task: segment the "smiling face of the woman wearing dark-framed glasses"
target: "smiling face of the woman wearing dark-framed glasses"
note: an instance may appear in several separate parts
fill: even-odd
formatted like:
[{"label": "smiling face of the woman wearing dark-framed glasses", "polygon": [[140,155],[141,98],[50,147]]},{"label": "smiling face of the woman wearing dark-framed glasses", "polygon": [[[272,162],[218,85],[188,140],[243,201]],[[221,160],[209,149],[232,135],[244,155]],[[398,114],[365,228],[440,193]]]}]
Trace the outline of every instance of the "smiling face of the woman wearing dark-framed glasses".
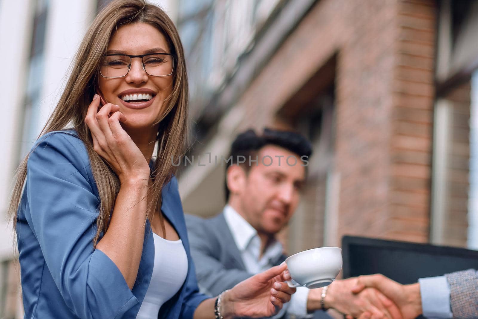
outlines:
[{"label": "smiling face of the woman wearing dark-framed glasses", "polygon": [[[102,103],[120,106],[127,118],[124,127],[154,127],[157,132],[164,115],[163,102],[173,89],[173,65],[168,41],[157,28],[144,22],[121,27],[100,62],[98,94]],[[152,98],[145,100],[143,94]]]}]

